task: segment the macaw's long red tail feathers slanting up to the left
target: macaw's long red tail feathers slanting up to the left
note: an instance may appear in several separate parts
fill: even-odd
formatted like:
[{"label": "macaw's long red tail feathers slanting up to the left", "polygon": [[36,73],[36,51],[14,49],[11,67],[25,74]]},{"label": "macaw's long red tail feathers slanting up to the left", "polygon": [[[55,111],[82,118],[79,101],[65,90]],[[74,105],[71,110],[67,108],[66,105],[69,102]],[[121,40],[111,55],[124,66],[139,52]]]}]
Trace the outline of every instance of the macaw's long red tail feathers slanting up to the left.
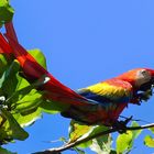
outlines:
[{"label": "macaw's long red tail feathers slanting up to the left", "polygon": [[[10,24],[10,25],[9,25]],[[45,98],[58,101],[62,103],[74,105],[74,106],[89,106],[88,100],[80,95],[76,94],[70,88],[61,84],[55,79],[46,69],[44,69],[34,58],[31,56],[19,43],[13,30],[12,23],[6,25],[7,34],[6,37],[9,45],[4,43],[0,44],[3,46],[4,52],[9,51],[8,54],[12,54],[20,63],[25,78],[32,82],[40,79],[42,76],[47,76],[50,80],[42,85],[41,90],[46,91]],[[2,35],[0,35],[2,40]],[[0,40],[0,42],[1,42]],[[11,48],[10,48],[11,46]],[[4,48],[6,47],[6,48]],[[8,47],[8,48],[7,48]]]}]

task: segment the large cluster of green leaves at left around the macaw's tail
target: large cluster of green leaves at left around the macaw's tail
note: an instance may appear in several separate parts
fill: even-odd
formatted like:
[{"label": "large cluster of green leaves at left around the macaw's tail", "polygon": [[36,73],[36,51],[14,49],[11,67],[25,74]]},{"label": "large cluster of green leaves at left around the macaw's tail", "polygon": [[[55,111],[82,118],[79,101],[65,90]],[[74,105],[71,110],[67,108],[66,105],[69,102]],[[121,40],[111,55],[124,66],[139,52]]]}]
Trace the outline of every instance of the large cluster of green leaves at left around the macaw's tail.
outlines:
[{"label": "large cluster of green leaves at left around the macaw's tail", "polygon": [[[45,57],[40,50],[32,50],[30,54],[46,68]],[[50,78],[42,76],[30,84],[23,77],[18,61],[0,55],[0,144],[6,144],[12,140],[25,140],[29,134],[23,128],[33,124],[42,112],[56,113],[65,107],[44,99],[45,91],[37,90]]]}]

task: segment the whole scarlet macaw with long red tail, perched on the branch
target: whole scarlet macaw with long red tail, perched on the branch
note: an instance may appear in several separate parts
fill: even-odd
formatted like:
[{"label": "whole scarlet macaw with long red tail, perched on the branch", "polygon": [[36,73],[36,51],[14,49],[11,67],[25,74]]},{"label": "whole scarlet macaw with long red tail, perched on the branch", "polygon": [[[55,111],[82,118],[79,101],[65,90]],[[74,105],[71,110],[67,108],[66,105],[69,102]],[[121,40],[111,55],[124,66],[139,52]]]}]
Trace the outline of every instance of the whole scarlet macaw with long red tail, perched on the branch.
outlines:
[{"label": "whole scarlet macaw with long red tail, perched on the branch", "polygon": [[45,99],[69,105],[62,112],[64,117],[86,124],[112,125],[128,103],[139,105],[144,92],[154,84],[153,69],[136,68],[75,92],[55,79],[18,43],[11,23],[6,29],[9,43],[0,35],[1,53],[12,54],[19,61],[29,81],[43,75],[50,77],[50,81],[42,85],[41,90],[47,91],[44,94]]}]

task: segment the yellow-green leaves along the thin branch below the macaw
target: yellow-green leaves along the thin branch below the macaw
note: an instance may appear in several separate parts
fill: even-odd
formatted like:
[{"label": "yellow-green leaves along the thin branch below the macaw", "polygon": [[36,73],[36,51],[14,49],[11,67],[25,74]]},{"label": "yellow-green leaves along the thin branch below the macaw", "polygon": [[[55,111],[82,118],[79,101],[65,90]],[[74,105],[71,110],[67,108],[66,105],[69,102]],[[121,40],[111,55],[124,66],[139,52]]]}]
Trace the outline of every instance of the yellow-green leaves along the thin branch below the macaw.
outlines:
[{"label": "yellow-green leaves along the thin branch below the macaw", "polygon": [[[133,121],[131,127],[140,125],[139,123]],[[68,143],[76,142],[87,136],[94,136],[107,130],[109,130],[109,128],[105,125],[84,125],[82,123],[72,120],[69,127]],[[154,133],[154,128],[151,128],[148,130]],[[97,154],[128,154],[133,150],[135,140],[142,133],[142,131],[143,130],[133,130],[119,134],[116,139],[116,147],[113,147],[112,145],[113,140],[111,134],[106,134],[77,145],[76,147],[74,147],[74,151],[76,151],[78,154],[82,154],[85,153],[85,148],[89,147]],[[144,145],[146,145],[147,147],[154,147],[154,138],[152,135],[146,135],[144,138]]]}]

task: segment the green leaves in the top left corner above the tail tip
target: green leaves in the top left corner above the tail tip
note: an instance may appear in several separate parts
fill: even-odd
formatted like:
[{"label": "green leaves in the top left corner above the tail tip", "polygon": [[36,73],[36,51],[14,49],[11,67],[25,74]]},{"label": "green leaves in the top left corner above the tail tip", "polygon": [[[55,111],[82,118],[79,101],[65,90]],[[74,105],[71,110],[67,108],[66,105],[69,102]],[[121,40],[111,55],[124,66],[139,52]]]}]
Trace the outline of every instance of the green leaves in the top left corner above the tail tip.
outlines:
[{"label": "green leaves in the top left corner above the tail tip", "polygon": [[0,0],[0,26],[12,20],[14,10],[8,0]]}]

